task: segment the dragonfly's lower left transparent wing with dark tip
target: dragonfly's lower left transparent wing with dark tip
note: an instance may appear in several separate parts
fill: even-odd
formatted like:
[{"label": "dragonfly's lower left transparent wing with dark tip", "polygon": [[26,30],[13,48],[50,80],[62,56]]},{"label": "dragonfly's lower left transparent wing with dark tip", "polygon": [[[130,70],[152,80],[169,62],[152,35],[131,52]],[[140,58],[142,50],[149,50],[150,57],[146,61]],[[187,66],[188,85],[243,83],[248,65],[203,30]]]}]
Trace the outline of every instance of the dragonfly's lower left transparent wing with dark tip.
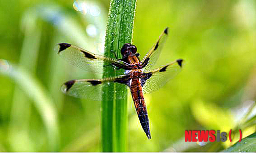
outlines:
[{"label": "dragonfly's lower left transparent wing with dark tip", "polygon": [[[71,80],[61,86],[61,91],[70,96],[78,98],[88,98],[92,100],[101,100],[102,87],[116,83],[126,84],[129,82],[130,75],[119,75],[104,79],[82,79]],[[111,96],[111,95],[110,95]],[[117,97],[118,98],[118,97]]]}]

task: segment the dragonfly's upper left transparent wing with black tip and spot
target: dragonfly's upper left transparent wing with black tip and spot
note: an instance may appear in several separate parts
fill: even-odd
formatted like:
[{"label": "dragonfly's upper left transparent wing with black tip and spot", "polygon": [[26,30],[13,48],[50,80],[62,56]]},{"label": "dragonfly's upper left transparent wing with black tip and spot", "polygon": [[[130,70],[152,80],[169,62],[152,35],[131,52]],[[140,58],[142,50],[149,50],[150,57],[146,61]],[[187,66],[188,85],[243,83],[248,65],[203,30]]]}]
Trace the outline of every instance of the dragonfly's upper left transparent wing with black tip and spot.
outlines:
[{"label": "dragonfly's upper left transparent wing with black tip and spot", "polygon": [[58,55],[69,63],[87,71],[103,73],[103,66],[117,66],[126,69],[130,66],[123,61],[104,57],[88,52],[82,48],[68,43],[59,43]]}]

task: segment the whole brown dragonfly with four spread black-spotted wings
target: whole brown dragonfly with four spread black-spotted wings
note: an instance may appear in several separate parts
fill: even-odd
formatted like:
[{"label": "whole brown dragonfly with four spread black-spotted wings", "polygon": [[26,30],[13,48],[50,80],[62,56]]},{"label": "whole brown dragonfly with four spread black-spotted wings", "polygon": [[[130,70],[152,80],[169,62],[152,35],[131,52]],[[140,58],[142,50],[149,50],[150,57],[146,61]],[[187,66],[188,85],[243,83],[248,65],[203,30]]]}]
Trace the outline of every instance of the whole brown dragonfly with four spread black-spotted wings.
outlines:
[{"label": "whole brown dragonfly with four spread black-spotted wings", "polygon": [[116,58],[109,58],[69,43],[59,43],[58,55],[83,70],[103,73],[103,66],[125,70],[124,74],[110,78],[68,81],[61,86],[62,92],[74,97],[101,100],[99,95],[102,94],[102,87],[106,84],[119,83],[129,87],[142,129],[147,138],[151,139],[150,122],[143,94],[152,93],[164,86],[181,71],[183,63],[182,59],[178,59],[152,69],[167,36],[168,28],[161,33],[157,42],[142,60],[139,59],[137,47],[131,43],[123,44],[120,50],[122,59],[118,59],[116,54]]}]

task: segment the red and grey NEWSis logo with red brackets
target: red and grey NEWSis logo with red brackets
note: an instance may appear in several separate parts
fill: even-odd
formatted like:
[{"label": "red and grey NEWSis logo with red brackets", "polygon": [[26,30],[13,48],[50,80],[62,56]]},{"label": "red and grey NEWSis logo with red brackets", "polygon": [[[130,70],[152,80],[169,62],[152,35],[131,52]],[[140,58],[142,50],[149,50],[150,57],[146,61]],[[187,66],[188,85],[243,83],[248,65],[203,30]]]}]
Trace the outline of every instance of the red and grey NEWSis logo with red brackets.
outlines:
[{"label": "red and grey NEWSis logo with red brackets", "polygon": [[[208,140],[210,142],[225,142],[227,141],[227,138],[229,138],[229,141],[231,142],[231,132],[229,131],[229,135],[227,136],[226,132],[220,132],[220,130],[185,130],[185,142],[207,142]],[[242,139],[242,131],[239,130],[240,133],[240,139],[239,142]]]}]

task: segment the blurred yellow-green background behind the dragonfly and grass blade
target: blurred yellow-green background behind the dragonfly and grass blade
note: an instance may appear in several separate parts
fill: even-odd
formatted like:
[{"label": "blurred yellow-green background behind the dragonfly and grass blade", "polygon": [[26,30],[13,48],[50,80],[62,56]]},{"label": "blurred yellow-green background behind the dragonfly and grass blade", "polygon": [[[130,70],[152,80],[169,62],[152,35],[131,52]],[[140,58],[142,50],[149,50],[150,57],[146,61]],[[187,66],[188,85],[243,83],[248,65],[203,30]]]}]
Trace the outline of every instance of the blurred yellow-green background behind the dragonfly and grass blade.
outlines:
[{"label": "blurred yellow-green background behind the dragonfly and grass blade", "polygon": [[[103,0],[0,2],[0,59],[13,65],[0,61],[0,151],[101,151],[100,101],[60,91],[68,80],[100,76],[70,65],[54,46],[68,42],[102,54],[109,5]],[[141,58],[165,27],[169,38],[156,67],[179,58],[185,65],[175,79],[145,95],[152,140],[130,97],[127,151],[228,147],[229,142],[184,142],[184,131],[229,132],[249,113],[256,97],[256,2],[138,0],[133,43]],[[256,129],[243,127],[243,137]]]}]

